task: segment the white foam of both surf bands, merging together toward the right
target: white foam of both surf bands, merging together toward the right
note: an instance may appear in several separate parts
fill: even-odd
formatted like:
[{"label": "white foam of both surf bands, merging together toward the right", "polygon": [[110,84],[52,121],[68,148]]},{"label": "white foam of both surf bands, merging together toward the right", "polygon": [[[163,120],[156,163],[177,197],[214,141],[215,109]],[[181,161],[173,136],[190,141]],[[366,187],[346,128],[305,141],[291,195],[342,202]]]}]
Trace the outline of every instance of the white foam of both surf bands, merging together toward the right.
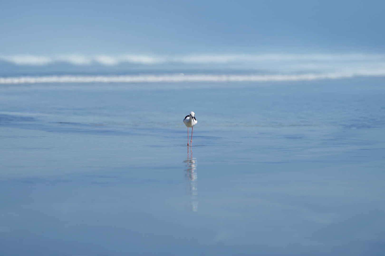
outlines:
[{"label": "white foam of both surf bands, merging together toward the right", "polygon": [[[122,63],[139,65],[167,64],[185,65],[184,69],[201,67],[227,70],[229,74],[163,74],[163,75],[124,75],[124,76],[19,76],[0,78],[0,84],[22,83],[153,83],[153,82],[232,82],[232,81],[300,81],[315,79],[338,79],[353,76],[384,76],[385,55],[368,54],[265,54],[265,55],[57,55],[57,56],[0,56],[0,60],[17,65],[43,66],[58,62],[73,65],[99,63],[116,66]],[[187,66],[186,66],[187,65]],[[192,66],[191,66],[192,65]],[[231,72],[229,70],[234,70]],[[236,70],[258,70],[258,74],[234,74]],[[249,71],[253,73],[252,71]],[[231,74],[233,73],[233,74]],[[257,73],[257,72],[255,72]]]}]

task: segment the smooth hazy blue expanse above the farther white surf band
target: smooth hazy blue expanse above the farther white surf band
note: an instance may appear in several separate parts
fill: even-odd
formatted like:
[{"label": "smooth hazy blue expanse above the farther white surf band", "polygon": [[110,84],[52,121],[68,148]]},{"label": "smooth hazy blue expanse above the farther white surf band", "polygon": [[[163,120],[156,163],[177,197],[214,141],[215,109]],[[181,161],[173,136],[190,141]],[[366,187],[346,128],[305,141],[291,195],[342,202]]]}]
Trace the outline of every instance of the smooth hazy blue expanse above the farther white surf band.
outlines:
[{"label": "smooth hazy blue expanse above the farther white surf band", "polygon": [[385,1],[0,0],[0,55],[385,53]]}]

